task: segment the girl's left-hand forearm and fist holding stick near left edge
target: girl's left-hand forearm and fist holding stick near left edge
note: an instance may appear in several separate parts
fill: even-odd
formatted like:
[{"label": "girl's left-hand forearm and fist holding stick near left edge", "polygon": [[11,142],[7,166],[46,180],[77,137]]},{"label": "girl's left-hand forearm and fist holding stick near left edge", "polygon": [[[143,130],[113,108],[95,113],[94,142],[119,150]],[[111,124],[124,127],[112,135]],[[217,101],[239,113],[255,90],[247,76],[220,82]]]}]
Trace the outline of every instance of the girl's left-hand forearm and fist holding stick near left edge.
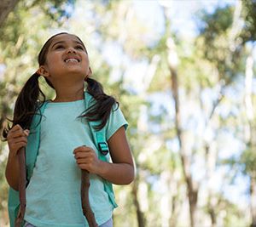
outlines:
[{"label": "girl's left-hand forearm and fist holding stick near left edge", "polygon": [[27,136],[29,131],[23,130],[20,125],[15,125],[14,128],[9,130],[7,141],[9,145],[8,162],[5,169],[5,177],[8,184],[14,189],[19,190],[19,160],[17,151],[26,146]]}]

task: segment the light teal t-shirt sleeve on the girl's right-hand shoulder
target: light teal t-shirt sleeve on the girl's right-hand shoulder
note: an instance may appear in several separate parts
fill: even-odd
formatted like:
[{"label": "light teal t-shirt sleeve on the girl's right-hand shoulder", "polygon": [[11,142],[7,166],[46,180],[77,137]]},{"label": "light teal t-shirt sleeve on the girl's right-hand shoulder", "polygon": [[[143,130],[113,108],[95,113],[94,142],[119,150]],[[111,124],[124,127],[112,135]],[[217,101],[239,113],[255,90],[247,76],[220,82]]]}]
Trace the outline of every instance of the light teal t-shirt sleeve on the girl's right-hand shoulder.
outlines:
[{"label": "light teal t-shirt sleeve on the girl's right-hand shoulder", "polygon": [[108,122],[106,125],[107,141],[122,126],[124,126],[126,130],[128,127],[128,122],[126,122],[125,116],[123,115],[119,106],[115,105],[110,112],[110,116],[108,117]]}]

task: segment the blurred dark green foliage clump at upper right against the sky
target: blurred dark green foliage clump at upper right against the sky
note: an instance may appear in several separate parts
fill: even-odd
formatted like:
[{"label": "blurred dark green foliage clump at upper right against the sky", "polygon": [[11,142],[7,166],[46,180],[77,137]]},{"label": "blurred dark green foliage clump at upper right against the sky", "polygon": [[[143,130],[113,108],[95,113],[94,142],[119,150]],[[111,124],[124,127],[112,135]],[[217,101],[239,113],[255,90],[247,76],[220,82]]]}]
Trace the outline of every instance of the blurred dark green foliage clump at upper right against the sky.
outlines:
[{"label": "blurred dark green foliage clump at upper right against the sky", "polygon": [[230,37],[233,14],[234,9],[230,6],[218,8],[212,14],[204,12],[200,29],[201,39],[198,40],[203,57],[215,65],[219,79],[224,79],[225,83],[230,83],[237,72],[243,70],[242,47],[236,46],[232,49],[232,43],[235,42],[234,37]]}]

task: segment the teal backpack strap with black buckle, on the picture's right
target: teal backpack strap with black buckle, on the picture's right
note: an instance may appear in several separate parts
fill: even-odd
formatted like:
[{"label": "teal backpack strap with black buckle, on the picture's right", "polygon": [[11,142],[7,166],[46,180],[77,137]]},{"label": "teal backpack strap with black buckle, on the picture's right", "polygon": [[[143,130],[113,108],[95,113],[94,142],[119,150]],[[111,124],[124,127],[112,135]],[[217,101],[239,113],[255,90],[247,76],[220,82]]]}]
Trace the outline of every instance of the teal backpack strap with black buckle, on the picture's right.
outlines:
[{"label": "teal backpack strap with black buckle, on the picture's right", "polygon": [[[84,100],[85,100],[85,110],[89,107],[90,100],[92,99],[91,95],[87,92],[84,93]],[[88,122],[90,127],[90,132],[93,136],[95,145],[97,149],[100,151],[98,158],[103,162],[109,162],[109,149],[108,143],[106,139],[106,128],[102,128],[101,130],[96,130],[94,126],[98,125],[98,122]],[[106,179],[104,181],[104,190],[108,193],[108,198],[113,204],[113,207],[118,207],[114,200],[114,193],[113,193],[113,185]]]}]

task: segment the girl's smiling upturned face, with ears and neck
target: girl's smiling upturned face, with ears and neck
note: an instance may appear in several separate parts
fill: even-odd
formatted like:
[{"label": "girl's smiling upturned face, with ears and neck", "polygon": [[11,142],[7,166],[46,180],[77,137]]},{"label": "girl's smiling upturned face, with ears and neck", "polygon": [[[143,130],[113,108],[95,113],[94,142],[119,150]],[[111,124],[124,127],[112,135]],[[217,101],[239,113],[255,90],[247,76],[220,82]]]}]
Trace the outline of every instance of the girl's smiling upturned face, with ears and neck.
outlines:
[{"label": "girl's smiling upturned face, with ears and neck", "polygon": [[[39,73],[55,88],[55,101],[82,99],[84,80],[90,77],[90,65],[84,44],[78,37],[61,34],[54,37]],[[79,91],[73,97],[74,91]]]}]

